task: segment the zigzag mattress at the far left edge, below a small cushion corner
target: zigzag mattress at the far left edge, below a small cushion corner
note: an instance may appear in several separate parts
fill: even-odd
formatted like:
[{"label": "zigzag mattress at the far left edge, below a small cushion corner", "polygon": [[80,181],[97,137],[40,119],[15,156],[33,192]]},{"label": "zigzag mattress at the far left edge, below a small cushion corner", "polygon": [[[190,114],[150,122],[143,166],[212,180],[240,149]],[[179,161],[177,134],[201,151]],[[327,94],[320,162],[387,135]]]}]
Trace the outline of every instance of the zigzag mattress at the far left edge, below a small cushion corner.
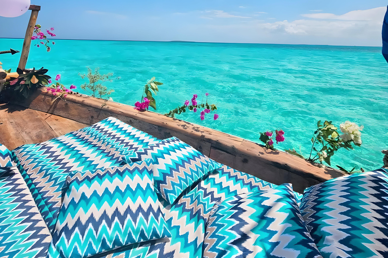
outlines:
[{"label": "zigzag mattress at the far left edge, below a small cushion corner", "polygon": [[0,176],[0,257],[40,258],[51,234],[16,167]]}]

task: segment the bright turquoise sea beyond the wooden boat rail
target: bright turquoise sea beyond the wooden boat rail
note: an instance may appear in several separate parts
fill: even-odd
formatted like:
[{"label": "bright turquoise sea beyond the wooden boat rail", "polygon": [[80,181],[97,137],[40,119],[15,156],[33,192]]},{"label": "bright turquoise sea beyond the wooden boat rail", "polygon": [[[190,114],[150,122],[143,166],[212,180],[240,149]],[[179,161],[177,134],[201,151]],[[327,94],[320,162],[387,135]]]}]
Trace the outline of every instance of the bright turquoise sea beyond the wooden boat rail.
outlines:
[{"label": "bright turquoise sea beyond the wooden boat rail", "polygon": [[[108,88],[114,101],[133,105],[144,84],[163,82],[155,97],[159,113],[182,105],[192,94],[217,105],[219,119],[186,112],[181,119],[260,142],[260,132],[282,128],[278,149],[308,156],[318,120],[337,126],[364,125],[361,147],[340,150],[332,166],[381,167],[388,149],[388,63],[379,47],[230,44],[192,42],[55,40],[50,53],[31,46],[27,68],[44,67],[79,86],[78,73],[99,67],[121,77]],[[21,39],[0,39],[0,50],[21,50]],[[16,68],[20,54],[0,55],[3,68]],[[16,71],[15,69],[13,71]],[[79,89],[79,92],[85,93]]]}]

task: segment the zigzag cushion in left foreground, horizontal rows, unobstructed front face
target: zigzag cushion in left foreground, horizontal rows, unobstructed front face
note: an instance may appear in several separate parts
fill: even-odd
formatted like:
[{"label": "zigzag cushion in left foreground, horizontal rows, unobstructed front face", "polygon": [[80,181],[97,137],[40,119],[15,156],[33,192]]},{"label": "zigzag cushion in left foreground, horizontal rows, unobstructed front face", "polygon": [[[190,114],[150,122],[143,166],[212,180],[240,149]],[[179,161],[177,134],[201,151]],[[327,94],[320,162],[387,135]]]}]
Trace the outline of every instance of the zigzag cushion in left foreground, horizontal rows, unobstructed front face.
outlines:
[{"label": "zigzag cushion in left foreground, horizontal rows, unobstructed front face", "polygon": [[88,257],[171,237],[153,184],[150,160],[69,175],[48,257]]}]

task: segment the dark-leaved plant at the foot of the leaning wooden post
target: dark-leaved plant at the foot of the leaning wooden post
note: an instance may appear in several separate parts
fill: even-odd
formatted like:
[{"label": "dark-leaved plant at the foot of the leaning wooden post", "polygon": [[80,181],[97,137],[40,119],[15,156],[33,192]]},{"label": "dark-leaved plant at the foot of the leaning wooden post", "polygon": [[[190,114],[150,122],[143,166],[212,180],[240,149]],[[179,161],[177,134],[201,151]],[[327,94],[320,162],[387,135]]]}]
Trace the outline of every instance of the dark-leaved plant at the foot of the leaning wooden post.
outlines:
[{"label": "dark-leaved plant at the foot of the leaning wooden post", "polygon": [[45,75],[47,69],[35,70],[21,70],[18,68],[16,72],[19,77],[10,82],[10,88],[16,91],[16,97],[28,98],[36,89],[44,87],[49,84],[50,76]]}]

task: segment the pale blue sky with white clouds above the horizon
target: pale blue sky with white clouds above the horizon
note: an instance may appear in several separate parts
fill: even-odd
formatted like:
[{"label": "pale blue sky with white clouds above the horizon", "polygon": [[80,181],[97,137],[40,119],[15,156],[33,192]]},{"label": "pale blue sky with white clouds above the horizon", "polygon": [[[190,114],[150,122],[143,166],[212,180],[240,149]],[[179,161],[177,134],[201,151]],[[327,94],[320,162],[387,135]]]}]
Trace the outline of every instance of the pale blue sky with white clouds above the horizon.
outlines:
[{"label": "pale blue sky with white clouds above the horizon", "polygon": [[[382,0],[44,1],[37,23],[61,39],[381,46]],[[30,12],[0,17],[23,38]]]}]

